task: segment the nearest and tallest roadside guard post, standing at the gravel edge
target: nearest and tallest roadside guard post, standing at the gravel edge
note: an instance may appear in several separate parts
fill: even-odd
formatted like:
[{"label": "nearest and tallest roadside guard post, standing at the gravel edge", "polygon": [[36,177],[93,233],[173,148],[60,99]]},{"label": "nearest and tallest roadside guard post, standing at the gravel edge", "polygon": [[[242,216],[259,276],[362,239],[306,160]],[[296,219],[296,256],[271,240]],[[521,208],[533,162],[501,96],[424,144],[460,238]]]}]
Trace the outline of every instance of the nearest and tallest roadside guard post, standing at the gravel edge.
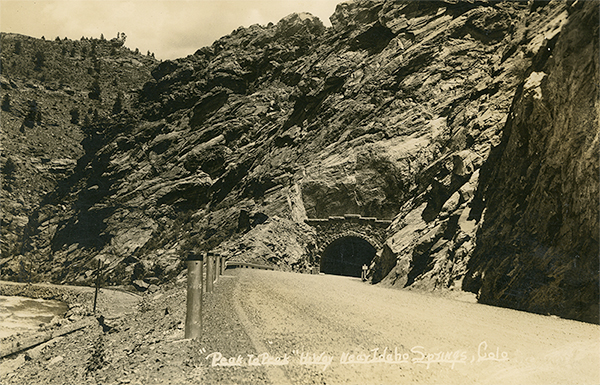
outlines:
[{"label": "nearest and tallest roadside guard post, standing at the gravel edge", "polygon": [[191,255],[187,260],[187,308],[185,338],[200,338],[202,332],[202,259]]}]

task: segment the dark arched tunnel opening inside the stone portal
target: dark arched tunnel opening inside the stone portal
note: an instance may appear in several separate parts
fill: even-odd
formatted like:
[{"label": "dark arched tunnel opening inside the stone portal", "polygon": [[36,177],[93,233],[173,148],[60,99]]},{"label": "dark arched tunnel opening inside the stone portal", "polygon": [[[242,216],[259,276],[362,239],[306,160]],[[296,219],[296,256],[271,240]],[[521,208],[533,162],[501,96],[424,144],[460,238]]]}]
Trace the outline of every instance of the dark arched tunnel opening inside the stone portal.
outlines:
[{"label": "dark arched tunnel opening inside the stone portal", "polygon": [[343,237],[331,242],[321,256],[321,272],[360,277],[362,266],[370,265],[375,247],[359,237]]}]

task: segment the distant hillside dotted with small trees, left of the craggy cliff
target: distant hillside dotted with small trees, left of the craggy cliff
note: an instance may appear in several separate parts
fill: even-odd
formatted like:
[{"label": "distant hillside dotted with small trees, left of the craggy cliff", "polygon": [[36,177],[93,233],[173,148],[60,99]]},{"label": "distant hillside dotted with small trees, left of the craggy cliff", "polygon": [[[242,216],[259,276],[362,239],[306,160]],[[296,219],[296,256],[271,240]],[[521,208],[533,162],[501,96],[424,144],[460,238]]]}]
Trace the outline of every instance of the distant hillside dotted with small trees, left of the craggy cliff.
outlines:
[{"label": "distant hillside dotted with small trees, left of the craggy cliff", "polygon": [[125,39],[2,33],[3,270],[26,264],[15,256],[25,251],[31,215],[72,174],[92,122],[126,113],[149,80],[156,60],[124,47]]}]

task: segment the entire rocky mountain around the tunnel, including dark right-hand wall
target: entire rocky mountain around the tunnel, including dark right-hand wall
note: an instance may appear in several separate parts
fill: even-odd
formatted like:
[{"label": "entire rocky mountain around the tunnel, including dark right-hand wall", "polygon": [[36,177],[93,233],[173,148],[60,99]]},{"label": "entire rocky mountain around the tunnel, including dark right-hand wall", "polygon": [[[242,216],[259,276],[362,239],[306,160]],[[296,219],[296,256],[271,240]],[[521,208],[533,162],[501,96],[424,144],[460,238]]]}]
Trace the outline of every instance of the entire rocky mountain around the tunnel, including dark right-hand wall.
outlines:
[{"label": "entire rocky mountain around the tunnel, including dark right-hand wall", "polygon": [[[360,214],[393,219],[373,283],[464,279],[482,301],[597,322],[597,10],[352,1],[331,28],[292,14],[162,62],[134,108],[89,122],[1,275],[24,258],[36,279],[86,283],[99,256],[111,282],[158,282],[194,249],[303,271],[320,257],[304,220]],[[535,290],[516,291],[534,270]],[[584,288],[579,302],[540,294],[552,275],[561,298]]]}]

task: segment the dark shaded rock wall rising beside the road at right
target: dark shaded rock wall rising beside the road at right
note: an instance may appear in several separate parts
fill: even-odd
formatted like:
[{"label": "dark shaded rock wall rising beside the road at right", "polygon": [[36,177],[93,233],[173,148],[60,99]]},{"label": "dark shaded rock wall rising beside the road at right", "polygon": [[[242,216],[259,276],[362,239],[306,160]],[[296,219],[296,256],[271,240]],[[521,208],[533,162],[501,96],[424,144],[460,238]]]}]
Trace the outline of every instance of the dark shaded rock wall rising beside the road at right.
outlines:
[{"label": "dark shaded rock wall rising beside the road at right", "polygon": [[574,5],[482,168],[465,288],[484,303],[598,323],[598,26],[597,2]]}]

